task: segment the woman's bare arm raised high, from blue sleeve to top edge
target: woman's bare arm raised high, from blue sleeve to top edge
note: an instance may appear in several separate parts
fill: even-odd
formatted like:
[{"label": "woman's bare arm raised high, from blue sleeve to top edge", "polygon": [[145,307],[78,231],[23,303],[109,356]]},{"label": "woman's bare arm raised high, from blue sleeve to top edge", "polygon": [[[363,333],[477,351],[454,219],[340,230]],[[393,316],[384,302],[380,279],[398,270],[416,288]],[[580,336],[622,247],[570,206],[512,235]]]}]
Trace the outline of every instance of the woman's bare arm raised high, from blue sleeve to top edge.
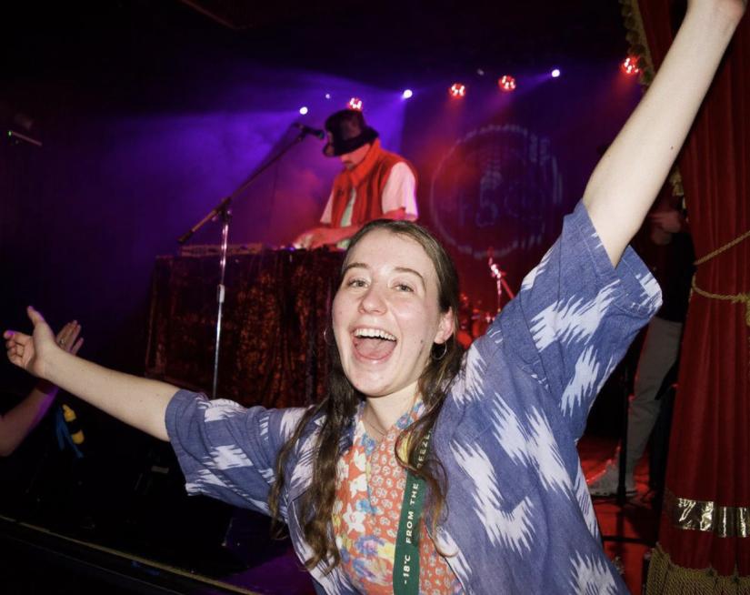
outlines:
[{"label": "woman's bare arm raised high, from blue sleeve to top edge", "polygon": [[584,205],[613,264],[641,227],[711,85],[747,0],[690,0],[641,103],[595,167]]}]

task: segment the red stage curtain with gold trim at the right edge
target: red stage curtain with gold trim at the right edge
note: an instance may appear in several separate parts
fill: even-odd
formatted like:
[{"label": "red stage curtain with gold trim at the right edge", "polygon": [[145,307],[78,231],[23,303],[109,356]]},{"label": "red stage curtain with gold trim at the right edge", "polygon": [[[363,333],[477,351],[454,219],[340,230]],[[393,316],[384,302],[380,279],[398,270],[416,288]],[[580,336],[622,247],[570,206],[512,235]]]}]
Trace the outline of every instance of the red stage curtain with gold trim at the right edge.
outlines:
[{"label": "red stage curtain with gold trim at the right edge", "polygon": [[[674,35],[671,4],[640,0],[630,5],[631,35],[638,36],[640,11],[640,33],[647,40],[640,49],[650,50],[657,68]],[[631,41],[637,45],[633,36]],[[698,261],[736,238],[745,239],[697,268],[700,291],[693,294],[685,325],[660,548],[648,592],[745,593],[750,592],[748,15],[678,165]],[[713,571],[697,571],[706,569]]]}]

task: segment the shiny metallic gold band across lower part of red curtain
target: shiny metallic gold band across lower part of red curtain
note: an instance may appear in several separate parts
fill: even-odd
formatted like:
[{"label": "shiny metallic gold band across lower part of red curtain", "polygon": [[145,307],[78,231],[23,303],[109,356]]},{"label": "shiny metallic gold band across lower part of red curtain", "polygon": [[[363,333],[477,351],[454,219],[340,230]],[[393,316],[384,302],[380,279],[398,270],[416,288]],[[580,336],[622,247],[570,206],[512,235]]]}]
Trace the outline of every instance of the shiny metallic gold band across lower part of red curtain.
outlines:
[{"label": "shiny metallic gold band across lower part of red curtain", "polygon": [[677,498],[666,490],[664,513],[678,529],[704,531],[718,537],[750,537],[750,507]]}]

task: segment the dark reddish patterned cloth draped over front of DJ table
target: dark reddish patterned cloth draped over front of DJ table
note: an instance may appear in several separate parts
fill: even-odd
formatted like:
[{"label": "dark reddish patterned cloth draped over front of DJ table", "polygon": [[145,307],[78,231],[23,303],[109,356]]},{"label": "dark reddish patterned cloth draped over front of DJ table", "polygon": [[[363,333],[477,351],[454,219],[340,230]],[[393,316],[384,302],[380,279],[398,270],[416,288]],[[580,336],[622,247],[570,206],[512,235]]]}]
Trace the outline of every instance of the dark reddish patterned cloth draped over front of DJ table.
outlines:
[{"label": "dark reddish patterned cloth draped over front of DJ table", "polygon": [[[322,397],[323,336],[343,253],[230,254],[217,396],[245,406],[292,407]],[[159,257],[146,373],[210,395],[218,257]]]}]

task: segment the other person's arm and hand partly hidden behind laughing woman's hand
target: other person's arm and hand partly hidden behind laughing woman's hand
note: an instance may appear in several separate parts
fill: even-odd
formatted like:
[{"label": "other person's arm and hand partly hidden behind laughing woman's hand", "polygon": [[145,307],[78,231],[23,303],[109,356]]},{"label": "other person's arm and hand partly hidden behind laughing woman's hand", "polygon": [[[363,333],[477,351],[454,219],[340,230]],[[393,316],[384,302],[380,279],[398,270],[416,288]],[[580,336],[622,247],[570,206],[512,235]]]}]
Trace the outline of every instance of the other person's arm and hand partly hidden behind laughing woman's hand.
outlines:
[{"label": "other person's arm and hand partly hidden behind laughing woman's hand", "polygon": [[[75,355],[84,343],[83,338],[78,338],[80,332],[81,325],[73,320],[57,333],[55,341],[60,348]],[[23,401],[0,416],[0,456],[13,454],[29,432],[35,429],[55,402],[58,390],[47,380],[39,380]]]}]

